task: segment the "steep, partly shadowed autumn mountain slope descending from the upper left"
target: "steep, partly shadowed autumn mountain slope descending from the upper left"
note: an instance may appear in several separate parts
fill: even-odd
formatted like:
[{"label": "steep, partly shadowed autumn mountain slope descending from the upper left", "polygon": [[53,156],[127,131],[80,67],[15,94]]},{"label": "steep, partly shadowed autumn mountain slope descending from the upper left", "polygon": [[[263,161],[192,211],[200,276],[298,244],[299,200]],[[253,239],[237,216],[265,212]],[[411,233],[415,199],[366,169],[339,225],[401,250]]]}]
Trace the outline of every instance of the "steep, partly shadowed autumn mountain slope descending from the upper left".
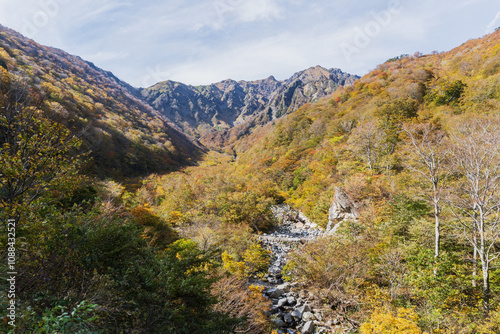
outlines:
[{"label": "steep, partly shadowed autumn mountain slope descending from the upper left", "polygon": [[204,149],[112,73],[0,25],[0,71],[24,78],[92,150],[94,172],[135,176],[192,164]]}]

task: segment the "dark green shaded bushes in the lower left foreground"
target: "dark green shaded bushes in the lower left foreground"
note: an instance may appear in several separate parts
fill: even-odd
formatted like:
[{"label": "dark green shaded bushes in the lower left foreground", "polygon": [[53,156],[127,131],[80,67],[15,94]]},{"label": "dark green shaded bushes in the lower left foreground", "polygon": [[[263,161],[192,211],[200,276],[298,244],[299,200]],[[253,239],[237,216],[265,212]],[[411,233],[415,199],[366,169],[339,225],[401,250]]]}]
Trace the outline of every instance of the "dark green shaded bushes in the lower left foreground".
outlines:
[{"label": "dark green shaded bushes in the lower left foreground", "polygon": [[[19,330],[229,333],[238,323],[212,311],[213,251],[184,239],[167,245],[159,236],[166,249],[151,248],[144,218],[139,223],[106,205],[46,218],[50,224],[24,234],[39,241],[19,259]],[[93,305],[79,302],[89,295]]]}]

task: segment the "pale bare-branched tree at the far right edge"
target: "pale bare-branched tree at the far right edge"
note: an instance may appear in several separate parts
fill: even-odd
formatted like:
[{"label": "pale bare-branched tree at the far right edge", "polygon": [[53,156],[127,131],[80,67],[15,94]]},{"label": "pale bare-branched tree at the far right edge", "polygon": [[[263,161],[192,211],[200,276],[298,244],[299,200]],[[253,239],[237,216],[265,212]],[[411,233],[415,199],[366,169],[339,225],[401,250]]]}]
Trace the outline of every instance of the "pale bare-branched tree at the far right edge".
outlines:
[{"label": "pale bare-branched tree at the far right edge", "polygon": [[451,134],[452,163],[461,180],[450,204],[465,238],[481,260],[483,309],[490,308],[490,268],[500,255],[500,120],[463,122]]}]

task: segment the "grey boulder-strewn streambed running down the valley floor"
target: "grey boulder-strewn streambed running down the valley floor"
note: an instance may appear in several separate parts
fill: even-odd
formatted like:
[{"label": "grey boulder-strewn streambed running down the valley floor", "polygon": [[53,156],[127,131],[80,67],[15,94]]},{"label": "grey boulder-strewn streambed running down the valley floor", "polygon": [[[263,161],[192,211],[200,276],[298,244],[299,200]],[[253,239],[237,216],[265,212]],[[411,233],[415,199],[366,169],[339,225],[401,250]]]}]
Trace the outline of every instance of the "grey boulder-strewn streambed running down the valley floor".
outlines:
[{"label": "grey boulder-strewn streambed running down the valley floor", "polygon": [[262,281],[256,282],[265,286],[264,295],[272,301],[268,311],[271,322],[280,334],[330,333],[335,323],[324,319],[324,312],[314,307],[317,305],[314,296],[296,282],[285,282],[282,277],[290,251],[320,237],[324,231],[289,206],[276,206],[273,213],[280,225],[272,233],[259,236],[262,245],[272,252],[272,263]]}]

